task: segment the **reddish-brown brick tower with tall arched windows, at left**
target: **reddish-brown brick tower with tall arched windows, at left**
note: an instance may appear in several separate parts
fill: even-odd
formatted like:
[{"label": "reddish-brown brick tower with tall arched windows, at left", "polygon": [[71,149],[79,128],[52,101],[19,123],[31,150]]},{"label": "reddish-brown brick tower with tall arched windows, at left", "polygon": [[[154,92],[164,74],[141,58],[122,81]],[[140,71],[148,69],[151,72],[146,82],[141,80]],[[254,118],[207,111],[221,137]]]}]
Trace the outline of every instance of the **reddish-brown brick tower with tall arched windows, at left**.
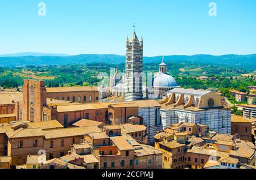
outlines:
[{"label": "reddish-brown brick tower with tall arched windows, at left", "polygon": [[46,106],[46,82],[39,80],[24,80],[22,106],[23,121],[42,121],[43,106]]}]

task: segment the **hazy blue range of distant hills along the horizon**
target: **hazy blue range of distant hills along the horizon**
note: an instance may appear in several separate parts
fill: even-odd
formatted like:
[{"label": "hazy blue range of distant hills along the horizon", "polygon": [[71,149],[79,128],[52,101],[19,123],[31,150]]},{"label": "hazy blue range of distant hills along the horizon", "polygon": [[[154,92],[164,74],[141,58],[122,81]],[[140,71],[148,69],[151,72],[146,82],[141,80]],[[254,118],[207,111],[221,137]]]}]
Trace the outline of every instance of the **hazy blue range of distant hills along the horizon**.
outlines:
[{"label": "hazy blue range of distant hills along the horizon", "polygon": [[[256,54],[251,55],[167,55],[164,57],[167,63],[203,63],[219,66],[242,67],[249,70],[256,69]],[[143,63],[161,62],[162,56],[144,57]],[[115,54],[80,54],[80,55],[26,55],[0,57],[0,66],[48,66],[48,65],[75,65],[93,62],[123,63],[124,55]]]}]

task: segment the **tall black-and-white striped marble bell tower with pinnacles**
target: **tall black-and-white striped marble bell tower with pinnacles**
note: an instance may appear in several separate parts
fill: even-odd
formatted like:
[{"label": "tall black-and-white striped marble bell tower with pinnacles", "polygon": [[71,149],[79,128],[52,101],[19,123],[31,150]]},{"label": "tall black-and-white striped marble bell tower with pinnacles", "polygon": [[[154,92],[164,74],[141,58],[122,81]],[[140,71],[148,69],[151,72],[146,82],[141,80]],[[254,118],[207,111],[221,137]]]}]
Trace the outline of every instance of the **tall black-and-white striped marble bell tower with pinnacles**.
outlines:
[{"label": "tall black-and-white striped marble bell tower with pinnacles", "polygon": [[142,93],[143,40],[134,31],[131,40],[126,39],[125,100],[141,100]]}]

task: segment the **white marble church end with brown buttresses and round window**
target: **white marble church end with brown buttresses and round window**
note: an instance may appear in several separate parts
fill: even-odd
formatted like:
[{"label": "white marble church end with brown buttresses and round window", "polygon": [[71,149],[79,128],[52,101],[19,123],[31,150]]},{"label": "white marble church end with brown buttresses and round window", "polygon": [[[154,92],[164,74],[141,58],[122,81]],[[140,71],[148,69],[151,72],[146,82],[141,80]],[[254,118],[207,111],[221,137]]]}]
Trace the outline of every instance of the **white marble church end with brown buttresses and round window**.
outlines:
[{"label": "white marble church end with brown buttresses and round window", "polygon": [[207,125],[220,134],[231,132],[231,110],[224,108],[220,95],[212,91],[172,89],[160,104],[163,128],[173,123],[192,122]]}]

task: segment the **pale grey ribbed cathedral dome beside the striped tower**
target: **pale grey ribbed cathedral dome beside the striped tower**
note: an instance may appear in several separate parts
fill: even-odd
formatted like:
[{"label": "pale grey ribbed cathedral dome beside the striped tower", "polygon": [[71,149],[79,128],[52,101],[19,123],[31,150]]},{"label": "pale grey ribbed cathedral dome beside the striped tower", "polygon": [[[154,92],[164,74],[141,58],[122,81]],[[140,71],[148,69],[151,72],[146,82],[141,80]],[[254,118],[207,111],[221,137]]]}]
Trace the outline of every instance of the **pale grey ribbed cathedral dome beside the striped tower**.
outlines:
[{"label": "pale grey ribbed cathedral dome beside the striped tower", "polygon": [[153,87],[177,87],[175,79],[166,72],[159,72],[152,78]]}]

